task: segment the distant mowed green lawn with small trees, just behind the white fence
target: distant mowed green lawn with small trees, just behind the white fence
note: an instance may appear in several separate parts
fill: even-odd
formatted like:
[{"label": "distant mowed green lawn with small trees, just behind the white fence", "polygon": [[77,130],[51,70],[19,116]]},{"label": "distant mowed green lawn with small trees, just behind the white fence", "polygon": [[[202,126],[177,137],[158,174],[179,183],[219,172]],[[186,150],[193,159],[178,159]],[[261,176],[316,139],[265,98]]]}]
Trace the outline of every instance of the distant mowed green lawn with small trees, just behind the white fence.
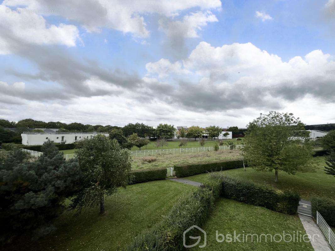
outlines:
[{"label": "distant mowed green lawn with small trees, just behind the white fence", "polygon": [[[228,141],[232,141],[237,145],[241,145],[243,142],[243,138],[241,138],[242,140],[236,140],[234,139],[229,139],[229,140],[222,140],[224,143],[228,142]],[[213,147],[215,145],[215,143],[217,142],[217,140],[206,140],[206,144],[205,147]],[[163,147],[156,147],[156,142],[155,141],[150,141],[150,143],[145,147],[141,147],[141,150],[156,150],[156,149],[173,149],[173,148],[181,148],[179,146],[180,141],[176,140],[176,141],[167,141],[166,142],[167,145],[163,146]],[[186,147],[202,147],[199,144],[198,139],[196,141],[190,140],[187,141],[187,145]],[[185,147],[183,147],[185,148]],[[133,146],[130,151],[139,151],[140,149],[136,146]],[[63,152],[64,154],[73,154],[75,151],[75,149],[70,149],[70,150],[62,150],[61,152]]]}]

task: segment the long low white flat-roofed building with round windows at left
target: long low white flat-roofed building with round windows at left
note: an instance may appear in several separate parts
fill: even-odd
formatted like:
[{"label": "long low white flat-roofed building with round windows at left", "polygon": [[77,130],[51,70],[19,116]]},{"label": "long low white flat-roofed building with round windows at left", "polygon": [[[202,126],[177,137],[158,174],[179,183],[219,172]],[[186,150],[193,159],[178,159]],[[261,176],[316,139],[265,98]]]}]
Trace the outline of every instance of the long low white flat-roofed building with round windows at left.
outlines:
[{"label": "long low white flat-roofed building with round windows at left", "polygon": [[77,133],[77,132],[23,132],[21,134],[22,144],[26,146],[43,145],[44,142],[51,140],[55,143],[70,144],[82,139],[89,139],[97,134],[109,136],[108,133]]}]

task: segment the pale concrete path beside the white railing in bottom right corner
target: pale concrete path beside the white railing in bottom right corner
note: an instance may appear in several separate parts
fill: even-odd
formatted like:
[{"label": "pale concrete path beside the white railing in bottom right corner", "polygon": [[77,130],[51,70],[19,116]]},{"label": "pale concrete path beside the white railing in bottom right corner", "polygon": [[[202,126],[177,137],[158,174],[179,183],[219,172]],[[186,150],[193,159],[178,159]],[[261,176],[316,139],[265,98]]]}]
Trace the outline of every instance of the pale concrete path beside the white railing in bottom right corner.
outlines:
[{"label": "pale concrete path beside the white railing in bottom right corner", "polygon": [[313,221],[313,219],[305,215],[299,215],[299,218],[304,226],[306,233],[311,236],[310,241],[311,241],[311,244],[314,250],[315,251],[332,251],[323,233],[321,232],[318,225]]}]

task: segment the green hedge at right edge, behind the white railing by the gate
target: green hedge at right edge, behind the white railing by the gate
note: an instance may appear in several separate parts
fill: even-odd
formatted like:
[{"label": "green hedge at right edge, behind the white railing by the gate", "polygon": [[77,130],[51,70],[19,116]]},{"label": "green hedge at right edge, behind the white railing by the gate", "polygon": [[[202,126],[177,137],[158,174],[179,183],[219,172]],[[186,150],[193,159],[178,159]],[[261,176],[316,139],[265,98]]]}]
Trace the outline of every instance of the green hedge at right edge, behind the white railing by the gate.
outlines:
[{"label": "green hedge at right edge, behind the white railing by the gate", "polygon": [[335,200],[312,197],[311,202],[313,217],[316,218],[316,211],[319,211],[328,225],[335,227]]}]

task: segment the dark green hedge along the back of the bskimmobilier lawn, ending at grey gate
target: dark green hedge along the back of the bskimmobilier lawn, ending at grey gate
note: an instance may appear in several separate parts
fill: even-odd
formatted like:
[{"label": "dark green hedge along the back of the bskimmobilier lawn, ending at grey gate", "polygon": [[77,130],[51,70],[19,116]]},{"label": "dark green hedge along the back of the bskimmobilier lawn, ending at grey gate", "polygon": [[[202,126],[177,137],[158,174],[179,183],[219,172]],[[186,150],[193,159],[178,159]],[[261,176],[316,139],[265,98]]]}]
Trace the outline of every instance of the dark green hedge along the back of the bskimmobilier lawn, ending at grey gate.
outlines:
[{"label": "dark green hedge along the back of the bskimmobilier lawn, ending at grey gate", "polygon": [[276,190],[263,184],[231,178],[220,173],[212,173],[211,180],[221,181],[220,195],[225,198],[290,215],[297,211],[300,196],[296,192]]}]

